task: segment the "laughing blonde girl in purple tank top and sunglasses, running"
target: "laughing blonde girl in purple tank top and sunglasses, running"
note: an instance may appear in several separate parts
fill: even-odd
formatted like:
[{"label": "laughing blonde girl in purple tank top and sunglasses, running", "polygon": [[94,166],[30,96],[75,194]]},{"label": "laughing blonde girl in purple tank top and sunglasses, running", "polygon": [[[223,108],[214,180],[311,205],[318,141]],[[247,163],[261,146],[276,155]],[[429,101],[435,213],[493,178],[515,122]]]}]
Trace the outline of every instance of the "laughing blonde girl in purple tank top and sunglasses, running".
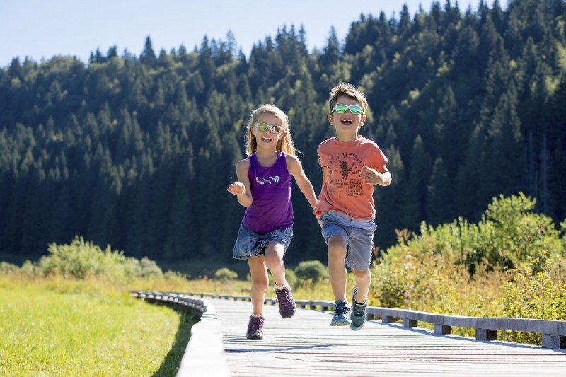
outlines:
[{"label": "laughing blonde girl in purple tank top and sunglasses, running", "polygon": [[253,313],[246,337],[262,339],[263,302],[269,284],[267,269],[275,279],[279,313],[283,318],[291,318],[295,313],[283,262],[293,238],[291,175],[313,209],[316,195],[295,156],[289,119],[276,106],[262,105],[252,112],[246,132],[246,155],[248,158],[236,163],[238,181],[228,186],[228,192],[247,207],[233,257],[248,260],[252,277]]}]

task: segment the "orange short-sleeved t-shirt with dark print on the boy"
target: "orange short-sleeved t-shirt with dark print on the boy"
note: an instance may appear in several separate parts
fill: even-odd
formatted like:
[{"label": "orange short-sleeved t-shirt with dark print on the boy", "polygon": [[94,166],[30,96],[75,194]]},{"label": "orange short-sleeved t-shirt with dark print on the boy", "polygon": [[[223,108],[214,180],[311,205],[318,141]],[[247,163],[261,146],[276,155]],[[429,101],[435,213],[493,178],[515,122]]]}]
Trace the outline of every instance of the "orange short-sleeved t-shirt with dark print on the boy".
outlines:
[{"label": "orange short-sleeved t-shirt with dark print on the boy", "polygon": [[318,145],[318,164],[328,168],[315,214],[340,211],[354,219],[375,219],[374,186],[365,183],[362,168],[367,166],[381,170],[387,158],[374,141],[359,136],[357,140],[344,142],[332,137]]}]

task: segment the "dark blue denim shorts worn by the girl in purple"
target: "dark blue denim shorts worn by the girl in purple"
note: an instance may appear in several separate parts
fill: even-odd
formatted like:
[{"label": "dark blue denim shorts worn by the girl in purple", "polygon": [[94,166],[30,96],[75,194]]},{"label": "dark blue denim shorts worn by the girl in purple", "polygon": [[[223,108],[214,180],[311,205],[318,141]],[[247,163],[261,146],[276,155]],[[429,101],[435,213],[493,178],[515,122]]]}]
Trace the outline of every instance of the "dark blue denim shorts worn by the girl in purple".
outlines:
[{"label": "dark blue denim shorts worn by the girl in purple", "polygon": [[251,231],[242,224],[234,245],[233,257],[234,259],[250,259],[258,255],[265,255],[265,247],[272,242],[280,243],[287,250],[292,239],[292,226],[276,229],[267,234],[260,234]]}]

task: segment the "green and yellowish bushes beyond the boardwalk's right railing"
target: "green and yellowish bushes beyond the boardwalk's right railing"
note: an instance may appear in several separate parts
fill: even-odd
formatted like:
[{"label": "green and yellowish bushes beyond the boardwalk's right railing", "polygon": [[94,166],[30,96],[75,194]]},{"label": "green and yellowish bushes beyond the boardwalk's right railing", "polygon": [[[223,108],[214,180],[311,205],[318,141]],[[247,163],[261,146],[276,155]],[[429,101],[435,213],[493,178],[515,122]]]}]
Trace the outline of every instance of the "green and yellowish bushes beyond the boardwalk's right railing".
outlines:
[{"label": "green and yellowish bushes beyond the boardwalk's right railing", "polygon": [[[566,221],[560,231],[524,195],[493,200],[481,221],[459,219],[403,237],[371,269],[371,306],[473,317],[566,319]],[[473,335],[456,327],[455,334]],[[540,335],[501,332],[540,344]]]}]

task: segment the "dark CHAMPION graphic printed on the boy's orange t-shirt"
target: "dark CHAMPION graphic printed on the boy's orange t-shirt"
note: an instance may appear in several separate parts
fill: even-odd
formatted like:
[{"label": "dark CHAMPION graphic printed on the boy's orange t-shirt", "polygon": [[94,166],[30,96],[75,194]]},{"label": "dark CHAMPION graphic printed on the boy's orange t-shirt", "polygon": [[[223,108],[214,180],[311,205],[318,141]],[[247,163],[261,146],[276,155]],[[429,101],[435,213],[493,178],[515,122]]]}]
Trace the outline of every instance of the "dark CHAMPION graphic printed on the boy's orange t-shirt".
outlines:
[{"label": "dark CHAMPION graphic printed on the boy's orange t-shirt", "polygon": [[[362,172],[364,161],[355,153],[340,153],[330,158],[328,164],[329,193],[337,192],[338,197],[359,197],[362,190]],[[332,187],[332,188],[330,188]]]}]

